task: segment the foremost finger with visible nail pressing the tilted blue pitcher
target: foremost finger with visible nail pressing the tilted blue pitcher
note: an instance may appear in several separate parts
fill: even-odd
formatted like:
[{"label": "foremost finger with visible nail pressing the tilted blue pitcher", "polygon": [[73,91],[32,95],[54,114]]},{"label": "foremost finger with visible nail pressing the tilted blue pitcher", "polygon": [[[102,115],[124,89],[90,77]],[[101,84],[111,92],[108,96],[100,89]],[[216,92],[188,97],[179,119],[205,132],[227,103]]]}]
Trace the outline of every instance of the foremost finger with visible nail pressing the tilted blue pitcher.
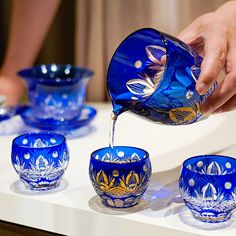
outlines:
[{"label": "foremost finger with visible nail pressing the tilted blue pitcher", "polygon": [[196,85],[196,90],[201,95],[206,93],[211,85],[217,81],[221,70],[224,68],[227,54],[227,40],[223,35],[211,32],[211,35],[205,35],[204,38],[205,56]]}]

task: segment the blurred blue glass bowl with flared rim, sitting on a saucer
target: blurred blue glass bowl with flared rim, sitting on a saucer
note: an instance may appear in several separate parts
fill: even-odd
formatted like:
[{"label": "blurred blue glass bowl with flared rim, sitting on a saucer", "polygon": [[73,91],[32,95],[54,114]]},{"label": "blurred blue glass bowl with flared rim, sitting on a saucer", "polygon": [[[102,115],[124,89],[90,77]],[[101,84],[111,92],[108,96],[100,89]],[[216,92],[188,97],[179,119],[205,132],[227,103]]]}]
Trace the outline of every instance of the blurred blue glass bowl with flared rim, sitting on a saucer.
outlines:
[{"label": "blurred blue glass bowl with flared rim, sitting on a saucer", "polygon": [[35,118],[70,121],[79,117],[93,72],[72,65],[40,65],[23,69],[32,114]]}]

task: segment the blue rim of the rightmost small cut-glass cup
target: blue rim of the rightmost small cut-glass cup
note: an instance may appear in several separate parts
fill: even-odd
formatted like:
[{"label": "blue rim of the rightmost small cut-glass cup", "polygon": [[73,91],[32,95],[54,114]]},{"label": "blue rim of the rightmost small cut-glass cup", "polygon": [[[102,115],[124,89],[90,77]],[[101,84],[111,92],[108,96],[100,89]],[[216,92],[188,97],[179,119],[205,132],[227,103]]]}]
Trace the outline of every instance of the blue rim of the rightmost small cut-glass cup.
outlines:
[{"label": "blue rim of the rightmost small cut-glass cup", "polygon": [[[191,170],[189,168],[187,168],[188,163],[189,161],[191,160],[203,160],[203,159],[210,159],[210,158],[215,158],[215,159],[219,159],[219,158],[227,158],[227,159],[230,159],[230,160],[233,160],[234,162],[236,162],[236,158],[234,157],[231,157],[231,156],[226,156],[226,155],[220,155],[220,154],[203,154],[203,155],[196,155],[196,156],[192,156],[192,157],[189,157],[187,158],[183,163],[182,163],[182,167],[185,168],[187,171],[190,171],[192,173],[195,173],[195,174],[199,174],[199,175],[202,175],[202,176],[227,176],[227,175],[233,175],[233,174],[236,174],[236,169],[231,172],[231,173],[226,173],[226,174],[208,174],[208,173],[200,173],[200,172],[197,172],[197,171],[194,171],[194,170]],[[182,171],[181,171],[182,172]]]}]

